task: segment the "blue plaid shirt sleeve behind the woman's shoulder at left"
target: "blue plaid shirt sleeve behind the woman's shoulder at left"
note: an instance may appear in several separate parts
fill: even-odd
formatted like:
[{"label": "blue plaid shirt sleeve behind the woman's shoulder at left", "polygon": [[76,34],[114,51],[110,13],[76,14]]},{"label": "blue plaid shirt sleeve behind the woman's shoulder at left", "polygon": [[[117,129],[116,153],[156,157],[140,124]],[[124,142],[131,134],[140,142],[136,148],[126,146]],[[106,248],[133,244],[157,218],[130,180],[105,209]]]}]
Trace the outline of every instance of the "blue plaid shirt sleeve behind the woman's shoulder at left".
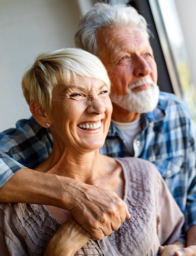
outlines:
[{"label": "blue plaid shirt sleeve behind the woman's shoulder at left", "polygon": [[19,169],[34,168],[52,150],[52,137],[33,117],[22,119],[12,128],[0,133],[0,186]]}]

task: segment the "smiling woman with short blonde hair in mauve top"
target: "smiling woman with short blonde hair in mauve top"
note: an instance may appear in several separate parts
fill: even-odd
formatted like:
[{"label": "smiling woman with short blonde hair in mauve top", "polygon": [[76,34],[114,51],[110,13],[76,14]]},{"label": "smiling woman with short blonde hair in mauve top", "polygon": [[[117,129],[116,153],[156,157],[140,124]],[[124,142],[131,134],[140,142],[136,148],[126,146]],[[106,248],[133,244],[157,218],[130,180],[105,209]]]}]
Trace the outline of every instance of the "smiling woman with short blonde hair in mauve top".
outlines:
[{"label": "smiling woman with short blonde hair in mauve top", "polygon": [[75,48],[40,54],[22,88],[35,120],[53,138],[51,155],[36,170],[111,190],[132,217],[95,241],[67,210],[1,204],[2,255],[157,255],[161,244],[178,240],[183,215],[155,166],[99,153],[112,105],[110,81],[96,56]]}]

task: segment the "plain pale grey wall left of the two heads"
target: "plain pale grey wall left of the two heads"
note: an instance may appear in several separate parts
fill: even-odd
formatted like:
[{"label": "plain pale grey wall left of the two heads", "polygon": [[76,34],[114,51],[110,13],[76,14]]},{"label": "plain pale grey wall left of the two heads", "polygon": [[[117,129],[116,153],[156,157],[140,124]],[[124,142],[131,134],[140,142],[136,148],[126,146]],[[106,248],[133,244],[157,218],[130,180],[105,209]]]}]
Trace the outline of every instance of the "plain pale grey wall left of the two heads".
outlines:
[{"label": "plain pale grey wall left of the two heads", "polygon": [[0,0],[0,131],[31,115],[22,75],[40,52],[74,47],[79,19],[77,0]]}]

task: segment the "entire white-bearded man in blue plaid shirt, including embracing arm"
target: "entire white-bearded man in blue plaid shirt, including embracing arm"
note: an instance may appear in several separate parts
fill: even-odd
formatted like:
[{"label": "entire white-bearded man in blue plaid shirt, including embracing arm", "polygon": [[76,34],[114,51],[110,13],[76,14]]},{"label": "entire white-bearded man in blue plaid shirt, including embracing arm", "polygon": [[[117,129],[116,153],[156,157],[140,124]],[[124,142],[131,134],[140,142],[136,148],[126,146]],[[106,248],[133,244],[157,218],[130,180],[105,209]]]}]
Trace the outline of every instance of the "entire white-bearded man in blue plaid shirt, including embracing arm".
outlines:
[{"label": "entire white-bearded man in blue plaid shirt, including embracing arm", "polygon": [[[174,95],[159,93],[157,67],[145,19],[134,8],[96,4],[83,17],[75,39],[77,47],[101,58],[112,82],[112,123],[102,153],[113,157],[141,157],[157,166],[185,215],[183,232],[188,247],[175,255],[196,255],[193,125],[185,107]],[[70,210],[96,239],[102,232],[107,233],[104,217],[111,218],[112,226],[116,209],[124,218],[124,212],[129,218],[126,207],[117,197],[117,206],[116,202],[109,202],[109,191],[23,168],[33,168],[51,152],[48,130],[33,119],[20,120],[17,129],[2,133],[0,145],[1,202],[43,204],[47,198],[48,204]],[[83,215],[83,207],[89,218]],[[94,207],[97,215],[91,214]]]}]

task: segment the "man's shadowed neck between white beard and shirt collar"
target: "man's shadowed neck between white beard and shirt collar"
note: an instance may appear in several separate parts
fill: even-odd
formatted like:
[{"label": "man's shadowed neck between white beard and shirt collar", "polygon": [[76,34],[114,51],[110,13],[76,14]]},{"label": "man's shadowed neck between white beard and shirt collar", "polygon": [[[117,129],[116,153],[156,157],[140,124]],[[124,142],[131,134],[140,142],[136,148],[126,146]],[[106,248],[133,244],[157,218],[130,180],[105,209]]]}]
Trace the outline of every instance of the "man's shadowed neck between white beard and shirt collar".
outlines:
[{"label": "man's shadowed neck between white beard and shirt collar", "polygon": [[117,122],[133,122],[140,116],[140,113],[129,112],[119,107],[113,102],[112,102],[112,106],[113,106],[112,119]]}]

